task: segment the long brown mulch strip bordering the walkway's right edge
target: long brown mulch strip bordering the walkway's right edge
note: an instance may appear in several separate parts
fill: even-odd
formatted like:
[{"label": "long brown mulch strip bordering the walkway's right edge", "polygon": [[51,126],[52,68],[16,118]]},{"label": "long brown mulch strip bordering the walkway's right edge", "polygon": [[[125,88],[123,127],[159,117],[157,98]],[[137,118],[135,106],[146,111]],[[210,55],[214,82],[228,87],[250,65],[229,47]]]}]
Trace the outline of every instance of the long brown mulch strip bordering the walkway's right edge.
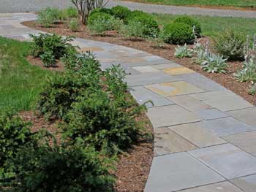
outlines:
[{"label": "long brown mulch strip bordering the walkway's right edge", "polygon": [[[219,84],[223,85],[225,88],[237,93],[239,96],[243,97],[247,101],[252,104],[256,104],[256,97],[249,95],[249,83],[246,82],[237,82],[233,77],[233,72],[236,72],[237,69],[241,68],[241,62],[229,62],[228,63],[228,73],[227,74],[209,74],[200,69],[200,66],[197,64],[193,64],[191,58],[176,58],[174,56],[176,45],[165,45],[164,47],[155,47],[154,42],[150,42],[148,40],[129,40],[124,37],[118,37],[114,35],[114,33],[108,34],[108,36],[93,36],[89,33],[88,28],[86,26],[81,25],[79,32],[70,31],[64,23],[59,23],[57,25],[53,25],[50,28],[44,28],[42,26],[37,25],[34,21],[27,21],[23,23],[25,26],[29,26],[31,28],[36,28],[40,31],[47,31],[49,33],[66,35],[66,36],[74,36],[80,37],[84,39],[93,39],[102,42],[110,42],[116,45],[124,45],[127,47],[132,47],[138,50],[144,50],[148,53],[159,55],[162,58],[166,58],[172,61],[175,61],[178,64],[186,66],[189,69],[195,70],[200,74],[219,82]],[[113,35],[111,35],[113,34]]]}]

